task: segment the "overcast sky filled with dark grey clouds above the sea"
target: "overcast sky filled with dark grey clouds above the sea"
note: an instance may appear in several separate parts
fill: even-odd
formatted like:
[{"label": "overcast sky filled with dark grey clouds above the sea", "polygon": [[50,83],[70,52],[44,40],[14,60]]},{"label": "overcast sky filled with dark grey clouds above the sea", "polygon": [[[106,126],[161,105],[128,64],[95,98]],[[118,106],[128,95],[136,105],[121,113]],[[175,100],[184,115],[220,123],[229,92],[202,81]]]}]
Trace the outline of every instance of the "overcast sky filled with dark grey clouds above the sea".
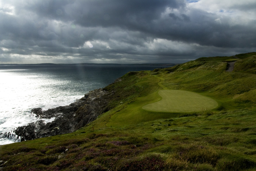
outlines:
[{"label": "overcast sky filled with dark grey clouds above the sea", "polygon": [[0,0],[0,63],[184,63],[255,51],[255,0]]}]

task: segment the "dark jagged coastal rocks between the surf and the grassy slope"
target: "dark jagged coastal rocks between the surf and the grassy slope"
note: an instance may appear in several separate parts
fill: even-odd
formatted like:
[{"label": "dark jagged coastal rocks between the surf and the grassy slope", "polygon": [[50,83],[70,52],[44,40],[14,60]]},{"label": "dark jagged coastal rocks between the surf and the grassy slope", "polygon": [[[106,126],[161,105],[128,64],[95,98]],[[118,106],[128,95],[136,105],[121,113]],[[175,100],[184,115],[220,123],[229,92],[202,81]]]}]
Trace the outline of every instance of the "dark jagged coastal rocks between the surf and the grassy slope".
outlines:
[{"label": "dark jagged coastal rocks between the surf and the grassy slope", "polygon": [[[15,134],[20,136],[23,141],[71,133],[94,121],[100,114],[108,110],[107,104],[110,96],[111,93],[96,89],[68,106],[45,111],[42,111],[41,108],[32,109],[31,113],[34,113],[40,120],[29,123],[27,126],[18,127]],[[52,117],[55,117],[54,121],[44,122],[44,119]]]}]

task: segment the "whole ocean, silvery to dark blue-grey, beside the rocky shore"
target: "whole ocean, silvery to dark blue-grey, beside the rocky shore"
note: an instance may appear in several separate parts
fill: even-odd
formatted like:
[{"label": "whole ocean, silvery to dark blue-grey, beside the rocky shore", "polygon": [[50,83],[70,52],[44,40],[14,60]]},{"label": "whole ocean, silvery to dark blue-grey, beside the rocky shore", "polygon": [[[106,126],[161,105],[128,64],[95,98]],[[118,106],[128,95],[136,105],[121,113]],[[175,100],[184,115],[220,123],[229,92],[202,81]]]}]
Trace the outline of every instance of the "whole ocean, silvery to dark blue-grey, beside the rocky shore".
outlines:
[{"label": "whole ocean, silvery to dark blue-grey, beside the rocky shore", "polygon": [[[91,90],[103,88],[129,71],[153,70],[138,65],[0,65],[0,134],[36,122],[33,108],[69,105]],[[54,119],[54,118],[53,118]],[[45,120],[51,122],[51,119]],[[0,145],[16,138],[3,138]],[[19,140],[16,140],[19,141]]]}]

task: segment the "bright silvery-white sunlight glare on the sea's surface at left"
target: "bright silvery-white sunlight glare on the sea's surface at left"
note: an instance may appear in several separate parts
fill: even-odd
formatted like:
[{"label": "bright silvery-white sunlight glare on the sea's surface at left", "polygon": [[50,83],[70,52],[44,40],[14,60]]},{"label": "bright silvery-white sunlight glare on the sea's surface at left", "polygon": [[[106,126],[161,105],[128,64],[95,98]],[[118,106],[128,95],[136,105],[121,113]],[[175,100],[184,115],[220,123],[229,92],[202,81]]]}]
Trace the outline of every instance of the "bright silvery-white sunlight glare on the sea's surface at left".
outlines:
[{"label": "bright silvery-white sunlight glare on the sea's surface at left", "polygon": [[37,118],[30,114],[32,108],[47,110],[67,105],[79,98],[67,90],[67,86],[72,83],[49,75],[0,70],[0,78],[0,132],[35,122]]}]

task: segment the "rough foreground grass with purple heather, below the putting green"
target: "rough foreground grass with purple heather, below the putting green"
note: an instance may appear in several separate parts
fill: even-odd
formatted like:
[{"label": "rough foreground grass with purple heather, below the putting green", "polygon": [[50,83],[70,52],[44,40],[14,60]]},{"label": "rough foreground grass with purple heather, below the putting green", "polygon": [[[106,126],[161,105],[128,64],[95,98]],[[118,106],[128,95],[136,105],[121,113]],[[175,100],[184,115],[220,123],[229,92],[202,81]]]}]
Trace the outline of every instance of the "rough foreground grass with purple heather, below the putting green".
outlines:
[{"label": "rough foreground grass with purple heather, below the putting green", "polygon": [[[255,109],[158,119],[1,146],[4,170],[253,170]],[[103,117],[103,116],[102,116]],[[98,123],[104,124],[104,123]]]}]

